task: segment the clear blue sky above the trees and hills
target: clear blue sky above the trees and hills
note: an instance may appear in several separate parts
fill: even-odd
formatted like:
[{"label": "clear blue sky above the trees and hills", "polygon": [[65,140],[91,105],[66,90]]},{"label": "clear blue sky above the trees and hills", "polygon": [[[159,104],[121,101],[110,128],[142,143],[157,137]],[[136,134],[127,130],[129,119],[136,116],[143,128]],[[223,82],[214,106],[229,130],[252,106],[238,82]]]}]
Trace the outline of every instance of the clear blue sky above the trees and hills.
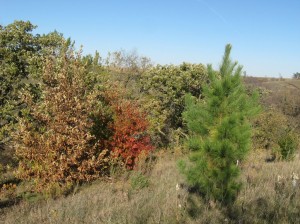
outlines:
[{"label": "clear blue sky above the trees and hills", "polygon": [[247,75],[300,72],[300,0],[0,0],[0,24],[29,20],[85,54],[133,51],[159,64],[212,64],[225,45]]}]

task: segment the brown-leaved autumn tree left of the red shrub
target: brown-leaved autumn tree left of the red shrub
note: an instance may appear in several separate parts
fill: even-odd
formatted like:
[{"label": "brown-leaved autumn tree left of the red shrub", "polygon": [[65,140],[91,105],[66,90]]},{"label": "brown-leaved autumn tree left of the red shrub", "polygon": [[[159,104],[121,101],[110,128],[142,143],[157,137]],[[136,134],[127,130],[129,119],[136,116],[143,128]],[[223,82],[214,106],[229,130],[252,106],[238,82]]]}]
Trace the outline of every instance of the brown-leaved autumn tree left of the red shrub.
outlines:
[{"label": "brown-leaved autumn tree left of the red shrub", "polygon": [[74,182],[91,181],[108,169],[108,152],[90,134],[95,100],[86,92],[86,70],[80,54],[66,48],[45,63],[42,100],[23,110],[16,136],[20,159],[18,177],[33,179],[35,189],[51,190]]}]

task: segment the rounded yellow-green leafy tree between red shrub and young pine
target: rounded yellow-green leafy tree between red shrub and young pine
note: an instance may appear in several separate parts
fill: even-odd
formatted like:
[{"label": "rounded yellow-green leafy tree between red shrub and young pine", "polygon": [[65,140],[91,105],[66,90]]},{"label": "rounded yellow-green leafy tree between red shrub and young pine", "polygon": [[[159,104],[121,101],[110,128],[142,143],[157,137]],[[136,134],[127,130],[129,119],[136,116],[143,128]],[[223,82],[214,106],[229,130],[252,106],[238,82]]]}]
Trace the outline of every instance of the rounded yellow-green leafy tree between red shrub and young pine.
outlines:
[{"label": "rounded yellow-green leafy tree between red shrub and young pine", "polygon": [[176,140],[183,127],[184,95],[191,93],[201,97],[207,80],[202,64],[158,65],[141,75],[140,94],[156,144],[168,145]]}]

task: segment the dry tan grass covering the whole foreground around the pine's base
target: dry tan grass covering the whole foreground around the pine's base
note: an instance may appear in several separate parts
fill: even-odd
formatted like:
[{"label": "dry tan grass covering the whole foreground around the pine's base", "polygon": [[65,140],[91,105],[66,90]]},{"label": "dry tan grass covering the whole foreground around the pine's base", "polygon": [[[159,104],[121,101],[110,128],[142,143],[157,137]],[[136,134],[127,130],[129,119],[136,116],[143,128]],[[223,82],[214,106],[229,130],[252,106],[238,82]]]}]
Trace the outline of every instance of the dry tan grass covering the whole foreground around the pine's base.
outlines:
[{"label": "dry tan grass covering the whole foreground around the pine's base", "polygon": [[293,188],[290,178],[300,174],[299,158],[267,163],[265,157],[255,151],[242,162],[244,188],[231,209],[204,204],[186,187],[176,190],[183,183],[176,165],[182,156],[162,153],[143,176],[147,185],[133,188],[137,172],[125,174],[66,198],[22,202],[3,211],[0,223],[300,223],[299,185]]}]

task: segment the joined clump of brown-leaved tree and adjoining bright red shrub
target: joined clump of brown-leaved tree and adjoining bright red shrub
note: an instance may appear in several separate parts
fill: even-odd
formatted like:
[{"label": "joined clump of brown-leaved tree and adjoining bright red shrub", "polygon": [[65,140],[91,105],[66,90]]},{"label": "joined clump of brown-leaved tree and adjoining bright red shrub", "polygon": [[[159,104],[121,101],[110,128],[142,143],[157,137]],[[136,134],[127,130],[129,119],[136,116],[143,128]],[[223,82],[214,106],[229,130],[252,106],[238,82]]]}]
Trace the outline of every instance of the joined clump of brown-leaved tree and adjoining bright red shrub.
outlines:
[{"label": "joined clump of brown-leaved tree and adjoining bright red shrub", "polygon": [[133,169],[153,149],[146,114],[116,91],[91,85],[96,74],[85,62],[67,41],[60,55],[46,59],[41,100],[23,95],[28,108],[15,134],[17,176],[52,196],[108,175],[116,160]]}]

